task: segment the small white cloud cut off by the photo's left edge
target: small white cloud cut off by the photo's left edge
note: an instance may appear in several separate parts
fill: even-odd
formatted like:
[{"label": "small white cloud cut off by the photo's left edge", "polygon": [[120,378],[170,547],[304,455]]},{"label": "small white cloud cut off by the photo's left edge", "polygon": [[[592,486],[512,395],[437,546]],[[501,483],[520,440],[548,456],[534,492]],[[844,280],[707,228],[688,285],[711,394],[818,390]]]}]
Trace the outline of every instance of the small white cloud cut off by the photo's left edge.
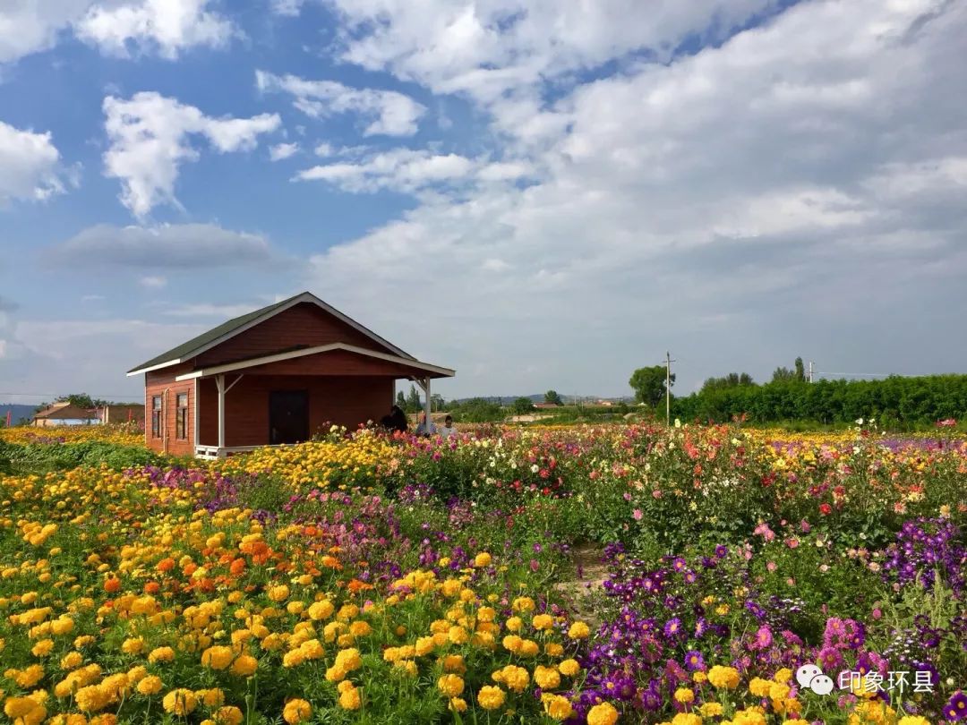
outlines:
[{"label": "small white cloud cut off by the photo's left edge", "polygon": [[62,193],[65,174],[49,132],[21,131],[0,121],[0,208],[11,201]]}]

